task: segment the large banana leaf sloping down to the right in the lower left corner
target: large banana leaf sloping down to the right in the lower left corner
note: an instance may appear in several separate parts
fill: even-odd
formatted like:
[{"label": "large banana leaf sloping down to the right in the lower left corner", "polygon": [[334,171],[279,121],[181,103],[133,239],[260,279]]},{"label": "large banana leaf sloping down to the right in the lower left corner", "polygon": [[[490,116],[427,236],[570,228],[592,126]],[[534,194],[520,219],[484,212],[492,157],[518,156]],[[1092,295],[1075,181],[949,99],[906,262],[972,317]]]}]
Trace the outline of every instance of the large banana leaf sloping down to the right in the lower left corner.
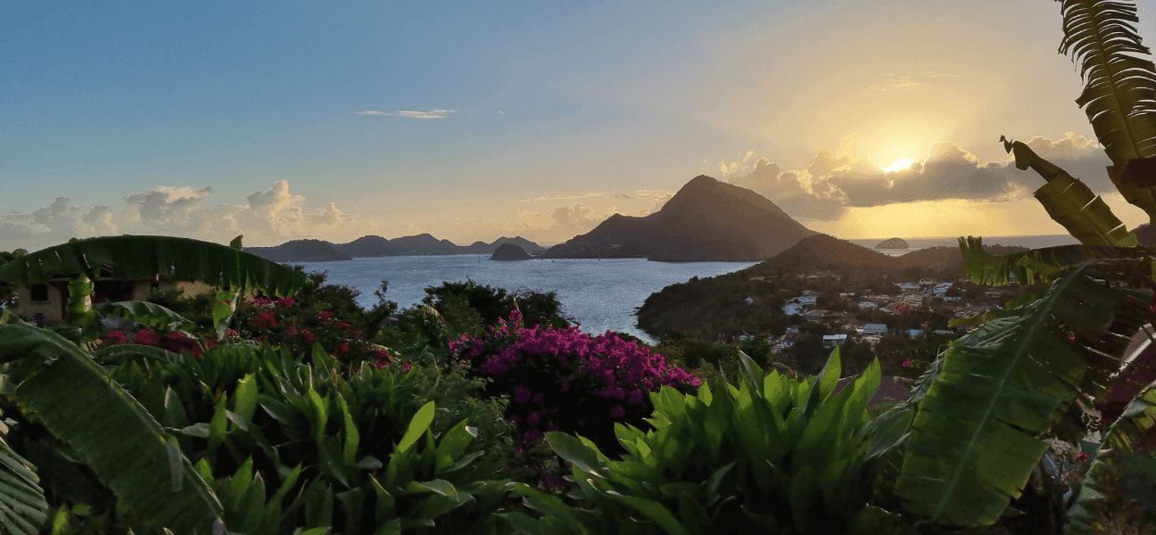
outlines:
[{"label": "large banana leaf sloping down to the right in the lower left corner", "polygon": [[222,507],[175,439],[76,344],[23,324],[0,325],[0,361],[15,400],[73,447],[135,513],[175,533],[208,533]]}]

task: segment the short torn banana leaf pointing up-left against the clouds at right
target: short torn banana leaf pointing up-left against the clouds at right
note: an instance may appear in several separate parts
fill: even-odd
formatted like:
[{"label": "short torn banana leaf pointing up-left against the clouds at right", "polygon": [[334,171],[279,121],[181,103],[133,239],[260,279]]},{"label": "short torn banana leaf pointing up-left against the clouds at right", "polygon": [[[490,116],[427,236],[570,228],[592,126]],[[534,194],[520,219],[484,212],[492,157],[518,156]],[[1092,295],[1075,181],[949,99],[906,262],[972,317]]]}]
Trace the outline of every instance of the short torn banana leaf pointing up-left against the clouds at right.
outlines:
[{"label": "short torn banana leaf pointing up-left against the clouds at right", "polygon": [[1117,247],[1134,247],[1140,245],[1136,235],[1128,231],[1119,217],[1112,214],[1104,199],[1067,171],[1039,157],[1035,150],[1022,141],[1008,141],[1000,136],[1003,149],[1015,154],[1015,166],[1021,170],[1031,168],[1047,180],[1047,184],[1036,190],[1036,199],[1047,215],[1064,225],[1074,238],[1084,245],[1114,245]]}]

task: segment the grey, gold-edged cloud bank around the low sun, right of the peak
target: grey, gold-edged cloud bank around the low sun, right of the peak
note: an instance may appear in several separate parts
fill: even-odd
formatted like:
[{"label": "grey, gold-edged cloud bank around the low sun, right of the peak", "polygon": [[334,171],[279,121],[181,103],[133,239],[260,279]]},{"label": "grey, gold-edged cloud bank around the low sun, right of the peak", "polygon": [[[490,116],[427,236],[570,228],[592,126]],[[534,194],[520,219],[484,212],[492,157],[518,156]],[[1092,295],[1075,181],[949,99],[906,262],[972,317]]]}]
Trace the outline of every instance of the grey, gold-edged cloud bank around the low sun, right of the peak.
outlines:
[{"label": "grey, gold-edged cloud bank around the low sun, right of the peak", "polygon": [[[1082,179],[1094,192],[1116,191],[1104,170],[1111,162],[1094,140],[1069,132],[1059,140],[1035,136],[1028,144]],[[948,142],[933,146],[921,162],[909,169],[888,172],[867,155],[857,153],[851,136],[843,140],[838,150],[820,150],[800,170],[783,171],[768,158],[754,159],[749,153],[738,162],[720,164],[720,169],[731,172],[732,184],[759,193],[793,217],[815,221],[838,220],[850,208],[907,202],[1020,201],[1030,199],[1044,185],[1035,172],[1015,169],[1010,157],[981,162],[975,154]]]}]

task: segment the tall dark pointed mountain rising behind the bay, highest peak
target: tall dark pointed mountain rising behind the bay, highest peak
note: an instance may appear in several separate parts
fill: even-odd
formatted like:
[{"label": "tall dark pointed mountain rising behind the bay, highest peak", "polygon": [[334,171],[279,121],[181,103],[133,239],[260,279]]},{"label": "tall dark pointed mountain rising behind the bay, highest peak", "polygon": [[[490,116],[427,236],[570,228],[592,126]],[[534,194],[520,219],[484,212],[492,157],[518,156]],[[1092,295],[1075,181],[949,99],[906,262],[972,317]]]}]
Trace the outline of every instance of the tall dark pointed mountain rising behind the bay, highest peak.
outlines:
[{"label": "tall dark pointed mountain rising behind the bay, highest peak", "polygon": [[645,217],[612,215],[543,257],[756,261],[814,233],[766,198],[703,174],[682,186],[661,210]]}]

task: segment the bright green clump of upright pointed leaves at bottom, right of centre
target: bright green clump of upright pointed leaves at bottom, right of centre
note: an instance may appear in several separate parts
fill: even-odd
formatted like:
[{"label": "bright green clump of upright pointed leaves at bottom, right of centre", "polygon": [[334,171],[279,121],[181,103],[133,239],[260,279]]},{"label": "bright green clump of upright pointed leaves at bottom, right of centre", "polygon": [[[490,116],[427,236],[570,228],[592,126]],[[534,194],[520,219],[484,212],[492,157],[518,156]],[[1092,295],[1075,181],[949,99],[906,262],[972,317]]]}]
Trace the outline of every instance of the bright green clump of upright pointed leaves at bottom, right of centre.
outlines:
[{"label": "bright green clump of upright pointed leaves at bottom, right of centre", "polygon": [[652,393],[653,430],[615,425],[629,452],[621,461],[583,437],[548,433],[572,463],[571,497],[593,507],[565,508],[518,485],[543,518],[507,521],[526,533],[903,533],[898,515],[865,507],[872,468],[861,430],[879,365],[832,395],[837,351],[807,381],[743,364],[738,387]]}]

